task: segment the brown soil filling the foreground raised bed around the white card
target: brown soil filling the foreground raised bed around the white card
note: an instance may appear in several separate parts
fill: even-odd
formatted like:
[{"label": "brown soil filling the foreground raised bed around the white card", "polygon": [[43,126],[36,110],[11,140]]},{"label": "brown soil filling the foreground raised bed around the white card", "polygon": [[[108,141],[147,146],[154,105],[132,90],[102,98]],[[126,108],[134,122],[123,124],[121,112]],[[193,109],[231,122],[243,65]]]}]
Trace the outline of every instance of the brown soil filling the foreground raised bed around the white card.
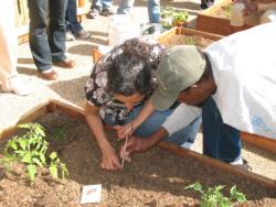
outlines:
[{"label": "brown soil filling the foreground raised bed around the white card", "polygon": [[[119,172],[99,167],[100,153],[86,123],[55,112],[38,120],[47,131],[51,149],[66,163],[70,177],[63,183],[53,181],[40,170],[30,185],[24,166],[10,172],[0,171],[0,206],[81,206],[83,185],[102,184],[102,201],[87,206],[194,206],[200,196],[184,189],[195,181],[204,186],[233,185],[243,192],[248,206],[276,206],[276,192],[257,183],[209,167],[195,160],[152,149],[135,154]],[[64,139],[53,141],[56,130],[64,129]],[[114,145],[121,143],[108,132]]]}]

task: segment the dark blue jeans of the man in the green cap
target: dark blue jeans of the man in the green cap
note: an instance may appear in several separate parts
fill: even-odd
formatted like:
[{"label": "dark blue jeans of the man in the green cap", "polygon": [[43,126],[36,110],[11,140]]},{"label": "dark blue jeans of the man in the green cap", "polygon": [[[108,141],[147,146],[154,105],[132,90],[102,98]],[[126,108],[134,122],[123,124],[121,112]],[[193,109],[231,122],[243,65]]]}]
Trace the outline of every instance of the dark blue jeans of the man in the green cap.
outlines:
[{"label": "dark blue jeans of the man in the green cap", "polygon": [[210,97],[202,107],[203,153],[224,162],[241,159],[240,131],[223,123],[221,113]]}]

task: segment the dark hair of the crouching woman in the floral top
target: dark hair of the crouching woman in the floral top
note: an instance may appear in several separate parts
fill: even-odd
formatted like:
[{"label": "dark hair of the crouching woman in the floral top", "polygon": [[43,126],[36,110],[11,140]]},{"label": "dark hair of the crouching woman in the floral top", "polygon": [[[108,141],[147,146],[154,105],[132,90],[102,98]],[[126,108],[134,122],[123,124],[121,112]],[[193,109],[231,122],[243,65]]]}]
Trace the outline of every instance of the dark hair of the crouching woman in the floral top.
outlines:
[{"label": "dark hair of the crouching woman in the floral top", "polygon": [[152,84],[150,64],[139,56],[123,53],[115,57],[107,72],[107,90],[113,95],[147,95]]}]

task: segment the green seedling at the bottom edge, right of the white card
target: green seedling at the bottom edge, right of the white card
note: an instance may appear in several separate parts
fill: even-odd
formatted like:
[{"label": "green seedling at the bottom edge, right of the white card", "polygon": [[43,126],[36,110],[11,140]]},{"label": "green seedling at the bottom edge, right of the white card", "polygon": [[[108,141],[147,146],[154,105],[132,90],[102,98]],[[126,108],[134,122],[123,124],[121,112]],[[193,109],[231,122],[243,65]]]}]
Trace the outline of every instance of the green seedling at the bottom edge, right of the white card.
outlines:
[{"label": "green seedling at the bottom edge, right of the white card", "polygon": [[225,186],[223,185],[217,185],[204,189],[199,182],[195,182],[194,184],[187,186],[185,189],[194,189],[195,192],[200,192],[201,207],[233,207],[246,201],[245,195],[237,192],[235,185],[230,189],[230,197],[223,195],[222,189]]}]

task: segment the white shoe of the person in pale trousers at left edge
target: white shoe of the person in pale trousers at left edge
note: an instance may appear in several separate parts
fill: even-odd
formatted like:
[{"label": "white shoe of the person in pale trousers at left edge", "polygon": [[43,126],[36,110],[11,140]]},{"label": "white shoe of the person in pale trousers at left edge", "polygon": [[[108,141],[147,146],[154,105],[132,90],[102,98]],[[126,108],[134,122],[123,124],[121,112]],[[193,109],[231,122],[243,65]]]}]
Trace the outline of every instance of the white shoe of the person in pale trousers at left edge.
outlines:
[{"label": "white shoe of the person in pale trousers at left edge", "polygon": [[20,76],[12,76],[9,78],[9,85],[2,86],[4,92],[13,92],[20,96],[26,96],[32,94],[31,87],[28,83]]}]

